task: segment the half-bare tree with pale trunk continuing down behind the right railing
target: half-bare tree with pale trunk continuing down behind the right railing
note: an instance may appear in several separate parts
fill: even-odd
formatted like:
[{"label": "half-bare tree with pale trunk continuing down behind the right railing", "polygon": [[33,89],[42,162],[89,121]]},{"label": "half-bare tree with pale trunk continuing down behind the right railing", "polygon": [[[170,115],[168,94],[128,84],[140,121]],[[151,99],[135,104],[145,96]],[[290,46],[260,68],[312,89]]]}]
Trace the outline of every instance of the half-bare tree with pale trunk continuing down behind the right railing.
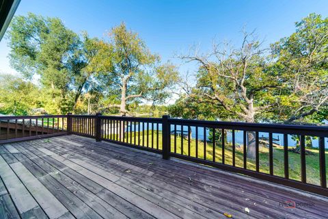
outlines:
[{"label": "half-bare tree with pale trunk continuing down behind the right railing", "polygon": [[[199,55],[195,51],[181,58],[199,65],[194,96],[199,96],[203,103],[213,103],[213,107],[222,107],[225,114],[220,116],[254,123],[276,103],[272,91],[279,87],[277,75],[268,70],[264,55],[265,50],[254,34],[245,33],[239,49],[214,44],[210,53]],[[255,158],[255,133],[247,132],[247,136],[247,155]]]}]

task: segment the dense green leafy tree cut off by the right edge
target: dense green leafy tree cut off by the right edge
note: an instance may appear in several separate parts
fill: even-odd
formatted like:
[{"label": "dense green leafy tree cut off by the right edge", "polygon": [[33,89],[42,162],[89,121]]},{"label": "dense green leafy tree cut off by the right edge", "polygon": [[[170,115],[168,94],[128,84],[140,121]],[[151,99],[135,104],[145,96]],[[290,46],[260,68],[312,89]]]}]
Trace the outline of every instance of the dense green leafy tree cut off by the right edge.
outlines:
[{"label": "dense green leafy tree cut off by the right edge", "polygon": [[310,14],[296,28],[271,45],[284,81],[274,119],[320,123],[328,116],[328,18]]}]

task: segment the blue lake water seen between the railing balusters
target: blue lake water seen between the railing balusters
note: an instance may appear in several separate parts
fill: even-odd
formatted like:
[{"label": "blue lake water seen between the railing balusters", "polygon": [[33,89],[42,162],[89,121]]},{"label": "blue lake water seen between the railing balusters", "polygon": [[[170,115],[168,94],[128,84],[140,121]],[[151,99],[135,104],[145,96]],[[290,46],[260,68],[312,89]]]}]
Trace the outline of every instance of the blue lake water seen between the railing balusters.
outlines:
[{"label": "blue lake water seen between the railing balusters", "polygon": [[[136,130],[134,130],[134,125],[131,127],[132,131],[139,131],[138,130],[138,125],[136,125]],[[152,129],[152,124],[149,123],[149,129]],[[156,129],[156,124],[154,124],[154,129]],[[177,132],[180,133],[181,131],[181,126],[177,125],[176,126]],[[140,123],[140,131],[147,130],[147,123]],[[159,130],[162,130],[162,125],[159,124]],[[171,131],[174,130],[174,125],[171,125]],[[128,127],[128,131],[130,131],[130,127]],[[188,127],[184,126],[183,127],[184,133],[188,131]],[[208,140],[209,136],[209,131],[206,129],[206,140]],[[259,132],[258,136],[264,137],[264,138],[269,138],[269,133],[266,132]],[[196,129],[195,127],[191,127],[191,137],[196,138]],[[199,140],[204,140],[204,128],[198,127],[198,139]],[[273,133],[273,139],[275,140],[274,143],[284,145],[284,135],[279,134],[279,133]],[[243,131],[235,131],[235,140],[236,144],[243,144]],[[231,130],[228,131],[227,133],[227,141],[232,142],[232,132]],[[296,146],[297,142],[295,140],[292,140],[292,136],[288,135],[288,146]],[[312,138],[312,146],[314,148],[318,147],[318,139]],[[325,138],[325,149],[328,149],[328,138]]]}]

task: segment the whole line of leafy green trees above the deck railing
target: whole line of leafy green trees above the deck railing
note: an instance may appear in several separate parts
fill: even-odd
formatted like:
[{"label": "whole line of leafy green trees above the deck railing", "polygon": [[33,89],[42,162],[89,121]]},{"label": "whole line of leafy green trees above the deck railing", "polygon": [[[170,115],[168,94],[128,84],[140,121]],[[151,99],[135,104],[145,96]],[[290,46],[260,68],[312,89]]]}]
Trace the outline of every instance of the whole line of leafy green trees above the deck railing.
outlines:
[{"label": "whole line of leafy green trees above the deck railing", "polygon": [[[175,117],[247,123],[323,123],[328,118],[328,19],[310,14],[270,47],[243,31],[240,47],[178,55],[198,68],[195,83],[148,49],[122,23],[105,38],[76,34],[59,18],[14,17],[10,63],[21,77],[1,76],[0,112],[134,115],[143,103]],[[39,84],[31,83],[38,78]],[[176,103],[165,105],[180,90]]]}]

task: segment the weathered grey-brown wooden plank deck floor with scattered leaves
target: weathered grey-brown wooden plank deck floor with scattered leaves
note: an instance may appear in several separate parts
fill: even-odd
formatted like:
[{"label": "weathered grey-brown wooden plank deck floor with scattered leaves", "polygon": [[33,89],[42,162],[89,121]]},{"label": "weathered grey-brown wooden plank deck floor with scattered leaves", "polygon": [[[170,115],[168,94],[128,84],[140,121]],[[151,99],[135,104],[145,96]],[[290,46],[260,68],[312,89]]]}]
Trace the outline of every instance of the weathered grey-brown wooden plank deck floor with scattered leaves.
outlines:
[{"label": "weathered grey-brown wooden plank deck floor with scattered leaves", "polygon": [[80,136],[0,155],[0,218],[328,218],[322,196]]}]

